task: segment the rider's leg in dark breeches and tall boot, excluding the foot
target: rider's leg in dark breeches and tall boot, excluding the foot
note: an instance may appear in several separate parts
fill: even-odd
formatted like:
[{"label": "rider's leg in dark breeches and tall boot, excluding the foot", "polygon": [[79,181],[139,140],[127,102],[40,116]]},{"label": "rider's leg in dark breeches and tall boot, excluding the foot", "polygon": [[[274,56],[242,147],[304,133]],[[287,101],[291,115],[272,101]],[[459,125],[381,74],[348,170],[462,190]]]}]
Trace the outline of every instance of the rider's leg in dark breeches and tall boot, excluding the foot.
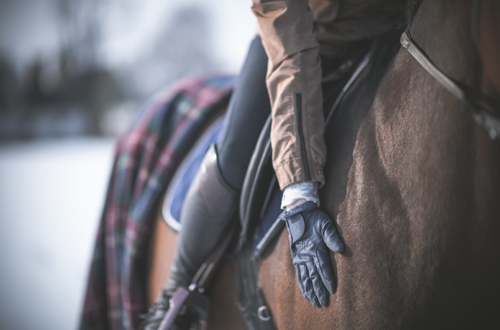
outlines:
[{"label": "rider's leg in dark breeches and tall boot, excluding the foot", "polygon": [[238,76],[219,141],[205,155],[184,202],[168,293],[189,285],[235,218],[248,163],[271,112],[266,70],[267,56],[256,37]]}]

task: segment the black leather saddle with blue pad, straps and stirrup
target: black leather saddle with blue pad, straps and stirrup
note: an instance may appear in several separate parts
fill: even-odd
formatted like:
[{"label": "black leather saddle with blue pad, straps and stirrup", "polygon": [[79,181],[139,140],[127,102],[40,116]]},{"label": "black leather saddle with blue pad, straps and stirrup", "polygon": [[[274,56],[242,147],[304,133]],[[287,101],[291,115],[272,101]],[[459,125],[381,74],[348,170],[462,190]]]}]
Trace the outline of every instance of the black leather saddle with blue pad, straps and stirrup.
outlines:
[{"label": "black leather saddle with blue pad, straps and stirrup", "polygon": [[[361,49],[348,57],[335,71],[323,77],[325,124],[340,104],[345,93],[366,68],[370,53]],[[222,129],[223,119],[215,120],[185,158],[169,185],[163,203],[163,218],[174,231],[182,227],[180,212],[187,191],[201,166],[205,151],[215,143]],[[239,205],[240,222],[230,230],[209,259],[202,265],[189,290],[179,288],[172,296],[177,308],[169,310],[159,329],[170,329],[183,304],[199,310],[198,329],[206,328],[209,312],[208,298],[200,293],[208,286],[220,259],[225,255],[233,260],[238,283],[238,307],[249,330],[275,330],[272,314],[267,306],[259,281],[259,259],[270,243],[281,233],[284,222],[281,213],[282,192],[272,167],[271,116],[259,136],[245,176]],[[225,252],[225,254],[224,254]],[[201,290],[200,290],[201,289]]]}]

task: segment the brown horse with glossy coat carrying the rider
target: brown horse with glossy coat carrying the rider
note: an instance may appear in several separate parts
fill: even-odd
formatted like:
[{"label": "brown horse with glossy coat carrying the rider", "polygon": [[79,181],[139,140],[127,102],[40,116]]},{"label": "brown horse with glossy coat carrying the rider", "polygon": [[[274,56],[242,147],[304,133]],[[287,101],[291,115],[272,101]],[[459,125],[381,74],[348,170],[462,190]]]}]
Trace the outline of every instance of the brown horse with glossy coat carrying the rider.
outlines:
[{"label": "brown horse with glossy coat carrying the rider", "polygon": [[[446,75],[498,101],[500,4],[481,1],[471,19],[472,5],[410,1],[409,32]],[[331,253],[337,291],[323,308],[303,298],[283,230],[259,264],[274,323],[278,329],[500,328],[500,142],[405,48],[382,50],[370,66],[325,132],[322,208],[346,244],[343,253]],[[500,107],[495,111],[500,115]],[[166,284],[175,248],[175,233],[158,214],[151,303]],[[229,260],[208,295],[210,329],[245,329]]]}]

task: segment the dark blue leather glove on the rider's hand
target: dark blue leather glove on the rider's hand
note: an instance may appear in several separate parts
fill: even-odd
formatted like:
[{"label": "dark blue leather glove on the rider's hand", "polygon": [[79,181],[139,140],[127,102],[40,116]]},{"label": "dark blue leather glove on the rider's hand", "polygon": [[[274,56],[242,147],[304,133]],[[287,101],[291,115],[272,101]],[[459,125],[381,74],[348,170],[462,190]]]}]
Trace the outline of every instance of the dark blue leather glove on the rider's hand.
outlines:
[{"label": "dark blue leather glove on the rider's hand", "polygon": [[328,292],[335,292],[335,276],[327,247],[337,253],[344,251],[344,243],[332,220],[313,202],[284,211],[280,218],[288,228],[292,260],[302,295],[314,306],[326,306]]}]

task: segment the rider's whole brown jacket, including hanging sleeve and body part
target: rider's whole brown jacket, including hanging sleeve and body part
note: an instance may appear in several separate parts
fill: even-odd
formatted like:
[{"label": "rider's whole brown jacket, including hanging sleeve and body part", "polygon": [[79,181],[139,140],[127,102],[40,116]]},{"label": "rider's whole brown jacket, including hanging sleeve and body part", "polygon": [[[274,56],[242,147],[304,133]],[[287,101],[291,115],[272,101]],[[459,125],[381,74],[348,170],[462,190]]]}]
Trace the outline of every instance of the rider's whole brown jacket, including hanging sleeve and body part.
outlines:
[{"label": "rider's whole brown jacket, including hanging sleeve and body part", "polygon": [[402,19],[404,4],[405,0],[253,0],[269,57],[273,166],[281,189],[304,181],[317,181],[321,187],[325,182],[319,53],[342,57],[375,39]]}]

